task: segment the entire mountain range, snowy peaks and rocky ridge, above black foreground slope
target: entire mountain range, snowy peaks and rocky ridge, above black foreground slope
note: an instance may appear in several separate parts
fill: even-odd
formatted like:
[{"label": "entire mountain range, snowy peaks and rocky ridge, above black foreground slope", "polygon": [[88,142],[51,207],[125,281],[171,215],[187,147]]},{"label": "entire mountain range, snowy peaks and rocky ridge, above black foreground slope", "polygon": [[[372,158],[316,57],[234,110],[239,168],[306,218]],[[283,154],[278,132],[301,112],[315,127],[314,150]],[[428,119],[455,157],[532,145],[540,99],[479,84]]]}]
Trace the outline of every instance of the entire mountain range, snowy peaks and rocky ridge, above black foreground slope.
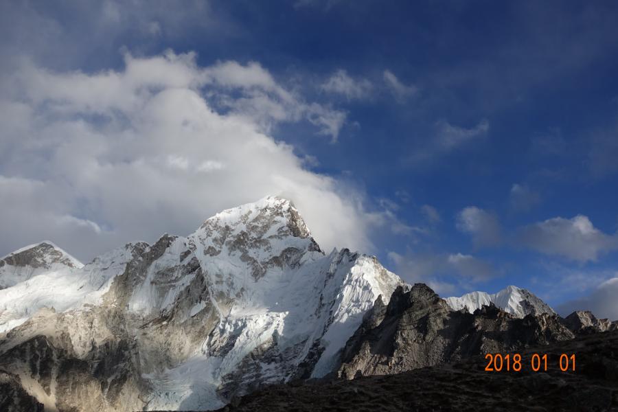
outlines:
[{"label": "entire mountain range, snowy peaks and rocky ridge, above black foreground slope", "polygon": [[[205,410],[266,385],[393,374],[616,324],[509,286],[441,299],[376,258],[324,253],[292,203],[81,264],[52,242],[0,260],[0,409]],[[12,408],[12,409],[10,409]]]}]

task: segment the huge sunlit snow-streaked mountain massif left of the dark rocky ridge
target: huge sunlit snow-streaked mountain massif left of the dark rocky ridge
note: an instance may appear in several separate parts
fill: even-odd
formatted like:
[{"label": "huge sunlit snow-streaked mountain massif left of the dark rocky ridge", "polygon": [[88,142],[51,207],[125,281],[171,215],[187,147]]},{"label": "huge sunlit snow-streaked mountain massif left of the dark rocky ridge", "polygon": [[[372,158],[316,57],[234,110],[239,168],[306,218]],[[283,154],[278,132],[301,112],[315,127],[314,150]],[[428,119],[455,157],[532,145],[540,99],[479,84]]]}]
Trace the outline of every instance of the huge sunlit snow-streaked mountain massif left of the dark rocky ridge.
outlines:
[{"label": "huge sunlit snow-streaked mountain massif left of the dark rocky ridge", "polygon": [[325,376],[403,284],[376,258],[323,253],[277,197],[85,266],[50,242],[0,262],[2,385],[56,411],[214,409]]}]

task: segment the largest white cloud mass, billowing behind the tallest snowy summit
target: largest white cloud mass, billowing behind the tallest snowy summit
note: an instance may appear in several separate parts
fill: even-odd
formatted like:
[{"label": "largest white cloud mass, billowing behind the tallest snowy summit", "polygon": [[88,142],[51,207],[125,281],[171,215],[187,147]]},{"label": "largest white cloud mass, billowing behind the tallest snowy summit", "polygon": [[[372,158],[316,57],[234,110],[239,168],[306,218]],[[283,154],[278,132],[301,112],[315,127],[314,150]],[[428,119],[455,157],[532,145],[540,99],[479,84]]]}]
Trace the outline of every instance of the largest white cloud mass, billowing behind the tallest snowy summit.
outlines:
[{"label": "largest white cloud mass, billowing behind the tallest snowy summit", "polygon": [[[193,54],[127,55],[119,71],[25,65],[0,106],[0,249],[50,238],[87,260],[131,240],[191,233],[267,194],[293,200],[324,249],[371,251],[363,192],[307,170],[268,128],[345,116],[305,102],[258,63],[198,67]],[[279,111],[260,111],[262,104]],[[267,113],[268,112],[268,113]]]}]

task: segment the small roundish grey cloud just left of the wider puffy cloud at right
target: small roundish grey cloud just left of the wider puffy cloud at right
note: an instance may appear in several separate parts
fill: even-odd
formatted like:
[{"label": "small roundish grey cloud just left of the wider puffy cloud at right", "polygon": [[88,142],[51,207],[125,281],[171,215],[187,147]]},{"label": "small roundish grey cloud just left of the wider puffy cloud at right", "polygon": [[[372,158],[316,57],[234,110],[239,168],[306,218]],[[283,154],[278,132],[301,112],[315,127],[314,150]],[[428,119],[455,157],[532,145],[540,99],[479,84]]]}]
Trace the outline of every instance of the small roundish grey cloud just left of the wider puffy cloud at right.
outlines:
[{"label": "small roundish grey cloud just left of the wider puffy cloud at right", "polygon": [[457,214],[457,229],[472,236],[476,247],[491,246],[501,241],[498,218],[476,206],[468,206]]}]

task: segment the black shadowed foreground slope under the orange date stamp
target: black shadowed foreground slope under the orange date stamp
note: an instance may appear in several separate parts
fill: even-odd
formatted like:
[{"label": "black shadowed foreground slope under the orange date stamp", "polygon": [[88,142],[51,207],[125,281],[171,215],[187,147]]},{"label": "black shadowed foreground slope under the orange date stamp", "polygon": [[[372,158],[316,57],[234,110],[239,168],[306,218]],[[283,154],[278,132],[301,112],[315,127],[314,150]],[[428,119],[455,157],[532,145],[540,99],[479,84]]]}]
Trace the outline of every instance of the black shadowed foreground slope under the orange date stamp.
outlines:
[{"label": "black shadowed foreground slope under the orange date stamp", "polygon": [[[237,399],[223,412],[618,411],[618,331],[578,336],[520,352],[522,371],[487,372],[483,356],[401,374],[275,385]],[[531,371],[534,353],[547,372]],[[577,371],[559,369],[576,354]]]}]

